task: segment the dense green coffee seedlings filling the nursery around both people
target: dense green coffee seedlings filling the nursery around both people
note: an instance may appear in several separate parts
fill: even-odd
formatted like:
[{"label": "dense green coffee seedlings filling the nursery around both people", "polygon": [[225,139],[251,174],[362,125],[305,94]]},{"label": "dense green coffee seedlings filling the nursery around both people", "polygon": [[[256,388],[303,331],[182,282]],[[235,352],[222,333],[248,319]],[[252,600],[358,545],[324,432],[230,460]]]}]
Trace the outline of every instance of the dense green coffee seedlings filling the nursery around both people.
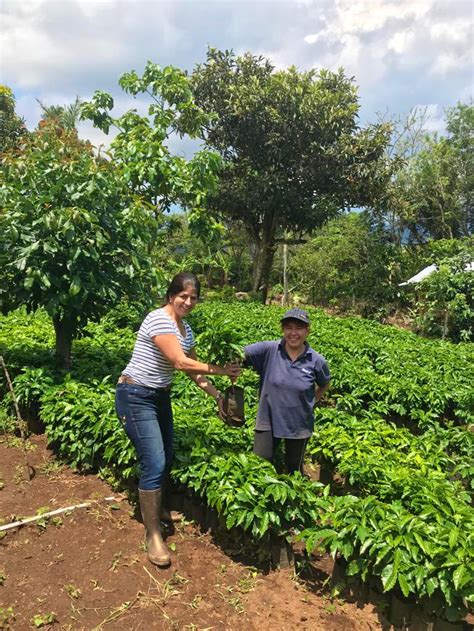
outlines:
[{"label": "dense green coffee seedlings filling the nursery around both people", "polygon": [[[226,361],[244,344],[277,338],[281,313],[258,304],[199,306],[192,318],[199,356]],[[0,327],[17,397],[30,414],[40,410],[60,456],[125,484],[137,470],[114,413],[114,383],[139,322],[126,314],[87,326],[66,377],[53,368],[46,314],[16,311]],[[330,552],[342,584],[393,594],[407,612],[416,606],[425,625],[417,628],[431,628],[433,617],[437,629],[461,628],[474,602],[473,346],[310,315],[309,341],[327,358],[332,387],[317,409],[307,459],[328,483],[284,475],[251,453],[258,381],[245,370],[243,429],[223,425],[213,401],[177,375],[175,486],[207,507],[208,522],[246,533],[261,550],[286,540],[304,542],[308,554]],[[5,418],[8,405],[5,395]]]}]

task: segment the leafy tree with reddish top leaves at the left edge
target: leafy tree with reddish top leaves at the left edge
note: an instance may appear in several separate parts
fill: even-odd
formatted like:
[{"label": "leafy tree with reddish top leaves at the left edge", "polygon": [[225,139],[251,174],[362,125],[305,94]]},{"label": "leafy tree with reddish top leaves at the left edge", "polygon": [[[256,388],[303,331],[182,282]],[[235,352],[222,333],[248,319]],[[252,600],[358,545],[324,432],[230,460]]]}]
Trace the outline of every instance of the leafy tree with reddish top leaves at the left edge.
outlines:
[{"label": "leafy tree with reddish top leaves at the left edge", "polygon": [[[44,307],[59,364],[87,319],[149,291],[150,218],[113,164],[51,119],[4,154],[0,188],[2,310]],[[34,331],[32,331],[34,335]]]}]

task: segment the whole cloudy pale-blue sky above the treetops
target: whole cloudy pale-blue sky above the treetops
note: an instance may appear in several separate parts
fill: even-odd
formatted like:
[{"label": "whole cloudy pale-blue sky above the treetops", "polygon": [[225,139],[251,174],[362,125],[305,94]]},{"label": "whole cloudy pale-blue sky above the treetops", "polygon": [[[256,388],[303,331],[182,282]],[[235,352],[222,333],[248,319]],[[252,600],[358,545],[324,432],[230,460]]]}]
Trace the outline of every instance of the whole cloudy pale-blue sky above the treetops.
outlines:
[{"label": "whole cloudy pale-blue sky above the treetops", "polygon": [[[41,108],[110,92],[117,114],[133,107],[118,86],[147,60],[192,71],[208,46],[250,51],[276,68],[343,67],[359,87],[360,121],[427,108],[444,112],[473,94],[472,0],[0,0],[0,82],[36,126]],[[83,123],[80,134],[107,143]]]}]

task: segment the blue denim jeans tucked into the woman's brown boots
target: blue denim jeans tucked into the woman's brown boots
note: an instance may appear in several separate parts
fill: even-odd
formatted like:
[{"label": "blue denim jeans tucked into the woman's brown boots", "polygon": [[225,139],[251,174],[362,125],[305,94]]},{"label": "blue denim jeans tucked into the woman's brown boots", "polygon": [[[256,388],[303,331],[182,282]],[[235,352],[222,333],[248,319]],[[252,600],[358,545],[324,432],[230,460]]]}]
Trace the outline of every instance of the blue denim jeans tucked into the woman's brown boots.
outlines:
[{"label": "blue denim jeans tucked into the woman's brown boots", "polygon": [[140,462],[138,488],[161,488],[173,457],[170,391],[119,383],[115,409]]}]

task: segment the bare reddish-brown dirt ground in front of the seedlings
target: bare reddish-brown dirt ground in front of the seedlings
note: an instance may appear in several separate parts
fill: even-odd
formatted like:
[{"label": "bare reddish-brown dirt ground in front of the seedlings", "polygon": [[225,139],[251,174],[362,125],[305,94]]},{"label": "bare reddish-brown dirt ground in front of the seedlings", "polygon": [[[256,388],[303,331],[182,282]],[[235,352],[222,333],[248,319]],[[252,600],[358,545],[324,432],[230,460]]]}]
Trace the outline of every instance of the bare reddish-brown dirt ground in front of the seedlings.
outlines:
[{"label": "bare reddish-brown dirt ground in front of the seedlings", "polygon": [[[209,534],[178,525],[173,563],[159,570],[143,550],[133,507],[95,475],[61,466],[44,436],[29,439],[34,478],[25,479],[18,439],[0,437],[0,516],[4,523],[84,501],[77,509],[7,531],[0,539],[0,629],[370,631],[388,629],[372,605],[330,599],[331,560],[313,578],[264,574],[233,561]],[[2,534],[2,533],[0,533]],[[12,612],[9,608],[12,608]],[[46,623],[54,613],[54,622]],[[37,625],[41,620],[37,618]]]}]

